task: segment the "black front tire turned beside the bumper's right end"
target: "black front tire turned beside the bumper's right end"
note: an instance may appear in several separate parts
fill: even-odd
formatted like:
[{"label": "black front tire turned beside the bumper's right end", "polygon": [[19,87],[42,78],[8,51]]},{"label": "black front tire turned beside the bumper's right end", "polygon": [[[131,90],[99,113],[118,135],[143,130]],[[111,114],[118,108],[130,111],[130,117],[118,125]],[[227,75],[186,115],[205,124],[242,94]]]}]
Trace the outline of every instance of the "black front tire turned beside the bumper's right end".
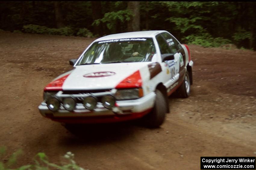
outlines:
[{"label": "black front tire turned beside the bumper's right end", "polygon": [[145,125],[150,128],[157,128],[164,123],[167,113],[167,103],[161,91],[156,90],[155,106],[152,111],[143,119]]}]

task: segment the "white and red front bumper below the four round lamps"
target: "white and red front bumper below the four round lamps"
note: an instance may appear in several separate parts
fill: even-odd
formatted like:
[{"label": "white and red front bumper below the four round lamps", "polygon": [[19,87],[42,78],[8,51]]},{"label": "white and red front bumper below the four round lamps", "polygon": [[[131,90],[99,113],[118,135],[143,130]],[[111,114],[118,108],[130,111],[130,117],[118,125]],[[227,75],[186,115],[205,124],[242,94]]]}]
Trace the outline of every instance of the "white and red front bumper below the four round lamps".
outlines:
[{"label": "white and red front bumper below the four round lamps", "polygon": [[116,101],[115,107],[106,109],[101,103],[93,110],[87,110],[82,103],[77,103],[76,109],[69,112],[63,106],[57,112],[48,109],[45,102],[38,106],[42,116],[64,123],[107,123],[126,121],[146,115],[154,107],[155,92],[151,92],[136,100]]}]

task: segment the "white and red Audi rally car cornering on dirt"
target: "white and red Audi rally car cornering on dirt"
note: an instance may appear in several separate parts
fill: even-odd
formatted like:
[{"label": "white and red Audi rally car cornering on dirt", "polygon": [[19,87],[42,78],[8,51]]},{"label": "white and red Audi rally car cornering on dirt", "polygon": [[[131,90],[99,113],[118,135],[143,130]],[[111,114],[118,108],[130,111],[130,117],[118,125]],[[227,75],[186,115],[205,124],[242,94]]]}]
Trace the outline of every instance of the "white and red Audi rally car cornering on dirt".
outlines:
[{"label": "white and red Audi rally car cornering on dirt", "polygon": [[189,47],[167,31],[113,34],[93,41],[74,69],[44,88],[40,113],[66,124],[142,120],[159,127],[168,96],[188,97],[193,61]]}]

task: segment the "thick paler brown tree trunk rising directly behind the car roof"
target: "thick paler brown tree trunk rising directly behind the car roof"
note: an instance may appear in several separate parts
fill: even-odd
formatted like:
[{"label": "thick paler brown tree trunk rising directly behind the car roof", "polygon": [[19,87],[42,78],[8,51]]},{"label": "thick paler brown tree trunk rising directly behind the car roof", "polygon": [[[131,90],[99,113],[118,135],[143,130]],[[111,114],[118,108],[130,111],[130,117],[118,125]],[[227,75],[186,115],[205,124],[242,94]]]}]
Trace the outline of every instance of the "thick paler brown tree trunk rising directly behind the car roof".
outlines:
[{"label": "thick paler brown tree trunk rising directly behind the car roof", "polygon": [[128,1],[128,9],[132,12],[132,17],[128,21],[128,31],[139,31],[140,30],[140,12],[138,1]]}]

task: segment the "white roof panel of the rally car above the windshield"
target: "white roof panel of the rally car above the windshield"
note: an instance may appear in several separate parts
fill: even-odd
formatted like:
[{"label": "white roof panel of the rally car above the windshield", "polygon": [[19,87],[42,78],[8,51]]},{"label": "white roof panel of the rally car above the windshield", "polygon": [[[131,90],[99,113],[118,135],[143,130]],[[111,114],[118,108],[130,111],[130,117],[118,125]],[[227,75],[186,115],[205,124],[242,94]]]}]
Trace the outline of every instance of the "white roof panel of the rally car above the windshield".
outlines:
[{"label": "white roof panel of the rally car above the windshield", "polygon": [[136,32],[125,32],[120,34],[111,34],[105,37],[98,38],[95,41],[105,41],[105,40],[114,40],[114,39],[123,39],[123,38],[146,38],[154,37],[156,34],[163,32],[164,30],[155,30],[155,31],[136,31]]}]

